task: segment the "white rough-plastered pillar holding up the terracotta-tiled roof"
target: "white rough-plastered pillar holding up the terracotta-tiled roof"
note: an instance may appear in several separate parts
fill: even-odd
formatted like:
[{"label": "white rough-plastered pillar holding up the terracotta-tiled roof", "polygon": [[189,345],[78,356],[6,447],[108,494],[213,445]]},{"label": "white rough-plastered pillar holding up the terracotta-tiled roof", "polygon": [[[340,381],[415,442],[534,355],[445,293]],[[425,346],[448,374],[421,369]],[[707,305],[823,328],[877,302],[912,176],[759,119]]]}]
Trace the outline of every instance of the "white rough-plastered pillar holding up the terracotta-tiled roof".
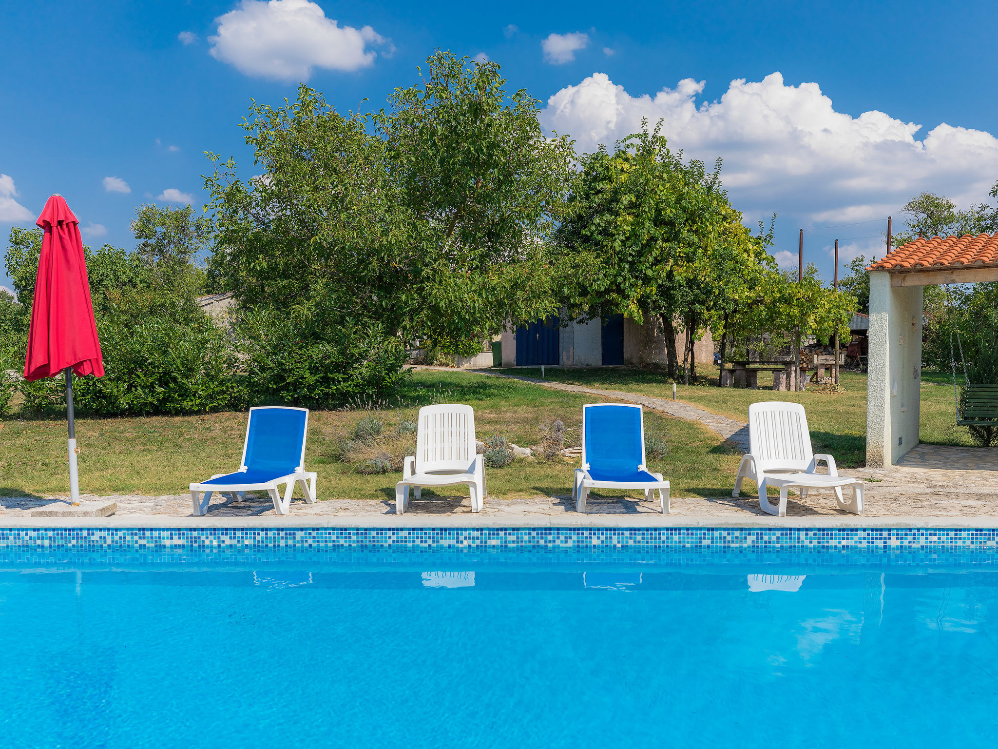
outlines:
[{"label": "white rough-plastered pillar holding up the terracotta-tiled roof", "polygon": [[889,273],[871,271],[866,380],[868,466],[893,465],[918,444],[921,363],[922,288],[891,287]]}]

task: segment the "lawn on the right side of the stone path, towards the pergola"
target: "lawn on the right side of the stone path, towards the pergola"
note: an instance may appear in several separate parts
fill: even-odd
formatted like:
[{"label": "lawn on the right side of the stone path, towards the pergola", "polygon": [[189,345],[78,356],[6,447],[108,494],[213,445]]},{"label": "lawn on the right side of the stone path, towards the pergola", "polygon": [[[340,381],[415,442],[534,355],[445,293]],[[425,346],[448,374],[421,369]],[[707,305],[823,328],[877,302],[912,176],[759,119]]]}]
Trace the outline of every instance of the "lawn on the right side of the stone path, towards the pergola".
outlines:
[{"label": "lawn on the right side of the stone path, towards the pergola", "polygon": [[[772,375],[759,375],[759,389],[718,387],[718,368],[698,368],[711,373],[712,384],[677,385],[677,398],[707,410],[741,421],[749,418],[749,403],[758,400],[789,400],[802,403],[815,452],[830,452],[839,465],[861,465],[866,451],[866,375],[842,373],[845,392],[821,393],[813,390],[788,392],[772,389]],[[496,370],[505,374],[539,377],[540,369]],[[600,389],[626,390],[656,397],[672,397],[673,383],[666,375],[653,370],[617,368],[548,369],[545,376]],[[705,378],[706,380],[706,378]],[[702,380],[704,381],[704,380]],[[948,385],[947,385],[948,382]],[[967,430],[957,427],[953,409],[952,379],[948,373],[926,371],[922,375],[921,424],[919,438],[930,444],[973,442]]]}]

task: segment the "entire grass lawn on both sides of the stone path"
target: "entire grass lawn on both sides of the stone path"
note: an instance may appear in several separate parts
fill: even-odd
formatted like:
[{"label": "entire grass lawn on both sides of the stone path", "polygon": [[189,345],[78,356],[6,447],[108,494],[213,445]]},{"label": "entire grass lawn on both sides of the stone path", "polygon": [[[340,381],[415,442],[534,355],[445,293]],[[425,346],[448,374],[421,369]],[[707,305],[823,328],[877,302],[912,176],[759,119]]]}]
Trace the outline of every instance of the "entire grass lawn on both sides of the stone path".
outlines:
[{"label": "entire grass lawn on both sides of the stone path", "polygon": [[[518,375],[539,371],[516,370]],[[672,383],[661,373],[643,370],[547,370],[549,379],[606,389],[672,396]],[[945,373],[926,373],[922,386],[923,441],[970,444],[963,429],[955,426],[952,387]],[[940,381],[939,384],[930,382]],[[763,383],[759,390],[680,384],[679,398],[708,410],[745,420],[749,403],[759,399],[793,400],[807,408],[815,451],[831,452],[838,464],[862,463],[866,426],[865,375],[845,373],[846,391],[837,394],[773,392]],[[561,392],[535,384],[461,372],[421,371],[402,396],[403,407],[377,412],[391,428],[400,419],[414,419],[420,404],[462,402],[475,408],[481,439],[493,433],[530,446],[540,438],[539,426],[562,419],[578,427],[582,405],[601,398]],[[306,466],[318,472],[320,498],[384,499],[394,496],[398,472],[366,475],[355,463],[338,461],[336,445],[350,434],[367,411],[312,411],[309,416]],[[646,410],[649,434],[663,434],[669,453],[650,459],[662,471],[677,496],[721,496],[731,491],[739,456],[722,444],[714,431],[698,423],[670,418]],[[178,494],[191,481],[239,466],[247,414],[213,413],[199,416],[77,419],[80,443],[81,491],[94,494]],[[406,437],[411,440],[412,437]],[[406,438],[396,440],[399,444]],[[397,444],[396,444],[397,446]],[[397,451],[397,449],[396,449]],[[489,493],[514,497],[571,493],[572,471],[577,461],[557,458],[518,459],[502,468],[488,468]],[[753,486],[746,486],[751,491]],[[63,418],[0,419],[0,496],[65,494],[66,422]],[[461,493],[462,489],[447,489]],[[614,492],[607,491],[606,494]],[[618,492],[619,493],[619,492]],[[748,494],[747,494],[748,495]]]}]

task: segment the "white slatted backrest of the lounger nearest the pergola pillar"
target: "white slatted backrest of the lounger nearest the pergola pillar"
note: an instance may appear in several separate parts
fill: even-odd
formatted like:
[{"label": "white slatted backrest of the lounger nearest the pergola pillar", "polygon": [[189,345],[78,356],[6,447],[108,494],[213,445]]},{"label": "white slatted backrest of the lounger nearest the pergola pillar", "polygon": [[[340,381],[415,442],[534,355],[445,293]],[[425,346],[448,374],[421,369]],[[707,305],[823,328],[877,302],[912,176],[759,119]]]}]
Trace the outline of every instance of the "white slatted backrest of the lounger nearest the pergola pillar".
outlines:
[{"label": "white slatted backrest of the lounger nearest the pergola pillar", "polygon": [[749,405],[749,451],[760,470],[805,470],[814,453],[804,406],[773,400]]}]

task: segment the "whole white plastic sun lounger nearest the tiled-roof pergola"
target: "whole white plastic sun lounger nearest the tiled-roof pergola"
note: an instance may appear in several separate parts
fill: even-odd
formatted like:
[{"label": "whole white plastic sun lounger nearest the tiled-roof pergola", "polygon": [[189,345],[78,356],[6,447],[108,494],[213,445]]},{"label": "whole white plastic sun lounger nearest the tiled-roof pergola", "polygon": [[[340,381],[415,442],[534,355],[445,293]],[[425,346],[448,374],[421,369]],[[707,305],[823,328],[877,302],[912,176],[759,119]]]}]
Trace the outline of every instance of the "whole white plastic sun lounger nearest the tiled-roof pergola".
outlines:
[{"label": "whole white plastic sun lounger nearest the tiled-roof pergola", "polygon": [[[824,461],[827,473],[817,473],[817,463]],[[791,486],[800,489],[801,498],[808,489],[832,489],[839,509],[859,515],[863,511],[863,482],[838,475],[835,458],[815,455],[811,450],[807,416],[800,403],[767,401],[749,405],[749,452],[742,456],[732,496],[742,492],[742,479],[758,484],[759,506],[770,515],[786,514],[786,492]],[[766,486],[779,488],[779,503],[770,504]],[[842,498],[842,487],[852,487],[852,498]]]}]

